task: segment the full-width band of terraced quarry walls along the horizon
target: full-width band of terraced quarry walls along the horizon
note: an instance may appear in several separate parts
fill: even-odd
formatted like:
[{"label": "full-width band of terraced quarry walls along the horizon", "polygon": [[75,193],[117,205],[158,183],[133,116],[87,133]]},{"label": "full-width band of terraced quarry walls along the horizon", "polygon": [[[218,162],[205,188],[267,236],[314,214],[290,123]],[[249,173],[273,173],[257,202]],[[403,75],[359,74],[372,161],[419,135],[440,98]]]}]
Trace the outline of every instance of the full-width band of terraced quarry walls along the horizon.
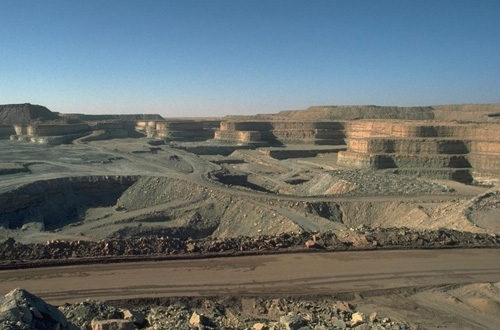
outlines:
[{"label": "full-width band of terraced quarry walls along the horizon", "polygon": [[[338,153],[338,166],[387,169],[463,182],[500,177],[499,128],[500,104],[315,106],[275,115],[228,116],[223,120],[57,114],[28,103],[0,105],[0,138],[69,143],[83,135],[91,141],[137,136],[139,131],[151,138],[215,139],[239,147],[340,145],[346,150]],[[212,152],[207,146],[202,148]]]}]

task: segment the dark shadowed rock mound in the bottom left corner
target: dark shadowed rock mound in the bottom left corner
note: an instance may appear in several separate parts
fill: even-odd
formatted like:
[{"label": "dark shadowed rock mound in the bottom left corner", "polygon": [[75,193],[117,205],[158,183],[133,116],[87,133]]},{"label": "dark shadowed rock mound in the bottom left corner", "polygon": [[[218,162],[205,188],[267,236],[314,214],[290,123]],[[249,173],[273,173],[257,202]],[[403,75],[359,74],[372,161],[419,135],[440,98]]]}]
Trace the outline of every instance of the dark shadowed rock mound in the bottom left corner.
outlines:
[{"label": "dark shadowed rock mound in the bottom left corner", "polygon": [[0,297],[0,328],[63,330],[68,329],[68,321],[56,307],[17,288]]}]

